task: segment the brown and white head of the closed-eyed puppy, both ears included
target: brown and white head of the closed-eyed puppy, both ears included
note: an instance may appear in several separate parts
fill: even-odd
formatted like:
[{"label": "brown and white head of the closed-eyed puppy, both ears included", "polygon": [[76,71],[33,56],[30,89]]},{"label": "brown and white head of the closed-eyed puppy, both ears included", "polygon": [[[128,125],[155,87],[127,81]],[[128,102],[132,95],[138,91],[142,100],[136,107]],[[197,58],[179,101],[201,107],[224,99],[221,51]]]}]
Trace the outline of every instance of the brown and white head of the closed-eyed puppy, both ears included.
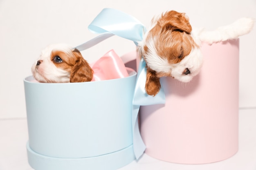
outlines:
[{"label": "brown and white head of the closed-eyed puppy, both ears included", "polygon": [[189,82],[202,66],[200,45],[194,41],[185,13],[168,11],[152,20],[152,26],[139,43],[139,53],[147,64],[146,91],[156,95],[159,78],[170,76]]}]

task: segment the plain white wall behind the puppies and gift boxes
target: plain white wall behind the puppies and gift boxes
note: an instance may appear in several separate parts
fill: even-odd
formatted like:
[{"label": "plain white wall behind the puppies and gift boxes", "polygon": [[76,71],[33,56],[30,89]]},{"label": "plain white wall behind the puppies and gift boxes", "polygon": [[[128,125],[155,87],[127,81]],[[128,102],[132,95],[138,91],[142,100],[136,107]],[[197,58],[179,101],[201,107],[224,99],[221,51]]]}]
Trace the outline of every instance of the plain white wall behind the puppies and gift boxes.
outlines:
[{"label": "plain white wall behind the puppies and gift boxes", "polygon": [[[168,10],[185,12],[192,26],[209,30],[240,17],[256,18],[256,0],[0,0],[0,119],[26,117],[23,79],[40,51],[48,44],[77,46],[94,38],[87,27],[106,7],[133,15],[146,27]],[[110,49],[123,55],[135,45],[115,36],[82,54],[93,62]],[[256,25],[240,38],[240,108],[256,107],[255,63]]]}]

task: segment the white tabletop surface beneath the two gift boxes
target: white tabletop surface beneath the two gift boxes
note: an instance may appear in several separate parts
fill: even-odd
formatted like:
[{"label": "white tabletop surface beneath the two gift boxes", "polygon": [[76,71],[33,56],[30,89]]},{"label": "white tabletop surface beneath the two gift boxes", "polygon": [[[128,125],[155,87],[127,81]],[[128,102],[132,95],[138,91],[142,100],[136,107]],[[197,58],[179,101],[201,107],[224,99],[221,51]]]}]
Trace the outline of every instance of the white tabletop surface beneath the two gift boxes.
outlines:
[{"label": "white tabletop surface beneath the two gift boxes", "polygon": [[[255,170],[256,108],[239,111],[239,150],[224,161],[184,165],[159,161],[144,154],[120,170]],[[26,119],[0,119],[0,170],[33,170],[27,162]]]}]

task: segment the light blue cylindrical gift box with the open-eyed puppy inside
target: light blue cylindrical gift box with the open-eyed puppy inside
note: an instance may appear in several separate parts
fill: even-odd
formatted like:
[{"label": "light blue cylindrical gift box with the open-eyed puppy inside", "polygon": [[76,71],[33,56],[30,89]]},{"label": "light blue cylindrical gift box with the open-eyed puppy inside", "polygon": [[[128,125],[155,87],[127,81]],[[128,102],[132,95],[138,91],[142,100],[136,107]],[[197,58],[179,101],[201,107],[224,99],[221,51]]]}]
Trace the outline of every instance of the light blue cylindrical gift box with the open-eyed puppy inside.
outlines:
[{"label": "light blue cylindrical gift box with the open-eyed puppy inside", "polygon": [[29,164],[35,170],[115,170],[135,159],[132,97],[137,73],[81,83],[24,79]]}]

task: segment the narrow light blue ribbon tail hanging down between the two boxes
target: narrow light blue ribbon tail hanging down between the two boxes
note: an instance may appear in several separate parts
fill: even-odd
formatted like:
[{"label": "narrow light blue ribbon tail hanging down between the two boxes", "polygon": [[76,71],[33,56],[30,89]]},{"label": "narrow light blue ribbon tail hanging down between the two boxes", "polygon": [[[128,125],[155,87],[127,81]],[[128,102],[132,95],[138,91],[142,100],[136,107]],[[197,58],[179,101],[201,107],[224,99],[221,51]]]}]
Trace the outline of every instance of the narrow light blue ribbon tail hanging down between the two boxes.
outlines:
[{"label": "narrow light blue ribbon tail hanging down between the two boxes", "polygon": [[133,108],[132,108],[133,150],[137,160],[141,157],[141,155],[143,155],[144,151],[146,150],[146,145],[144,144],[139,132],[139,122],[138,122],[139,107],[140,106],[133,105]]}]

